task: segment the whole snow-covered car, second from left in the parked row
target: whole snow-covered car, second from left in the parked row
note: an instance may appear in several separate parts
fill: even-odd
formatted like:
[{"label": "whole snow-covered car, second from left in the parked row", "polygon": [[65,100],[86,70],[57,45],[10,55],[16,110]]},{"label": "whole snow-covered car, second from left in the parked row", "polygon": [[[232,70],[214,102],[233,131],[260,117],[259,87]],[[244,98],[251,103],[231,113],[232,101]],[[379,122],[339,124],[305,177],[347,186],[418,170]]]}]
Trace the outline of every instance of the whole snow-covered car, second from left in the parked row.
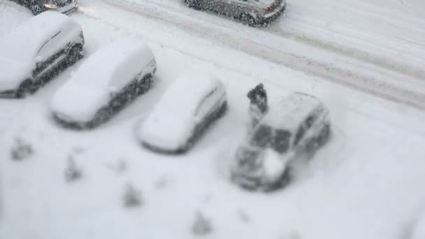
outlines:
[{"label": "whole snow-covered car, second from left in the parked row", "polygon": [[157,71],[152,50],[129,39],[94,52],[52,99],[53,117],[64,126],[93,128],[150,89]]}]

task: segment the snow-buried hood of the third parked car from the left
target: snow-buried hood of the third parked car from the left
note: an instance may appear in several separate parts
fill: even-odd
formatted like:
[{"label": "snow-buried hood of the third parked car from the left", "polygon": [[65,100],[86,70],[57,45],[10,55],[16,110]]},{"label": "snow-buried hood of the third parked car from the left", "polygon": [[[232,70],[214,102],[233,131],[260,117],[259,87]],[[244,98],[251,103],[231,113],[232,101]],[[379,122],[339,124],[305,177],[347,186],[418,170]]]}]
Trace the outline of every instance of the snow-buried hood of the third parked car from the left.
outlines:
[{"label": "snow-buried hood of the third parked car from the left", "polygon": [[151,113],[139,130],[143,143],[160,150],[184,147],[194,131],[194,120],[173,113]]}]

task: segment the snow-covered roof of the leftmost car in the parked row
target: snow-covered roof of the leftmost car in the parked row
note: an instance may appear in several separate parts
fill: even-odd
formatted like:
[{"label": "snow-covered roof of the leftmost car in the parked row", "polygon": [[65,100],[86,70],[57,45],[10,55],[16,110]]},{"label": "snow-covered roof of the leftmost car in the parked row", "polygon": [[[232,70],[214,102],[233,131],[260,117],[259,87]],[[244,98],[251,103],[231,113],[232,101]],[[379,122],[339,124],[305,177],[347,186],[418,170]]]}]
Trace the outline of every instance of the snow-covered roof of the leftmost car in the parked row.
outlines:
[{"label": "snow-covered roof of the leftmost car in the parked row", "polygon": [[65,29],[81,31],[80,26],[71,17],[46,11],[31,17],[0,39],[0,55],[23,61],[34,59],[48,39]]}]

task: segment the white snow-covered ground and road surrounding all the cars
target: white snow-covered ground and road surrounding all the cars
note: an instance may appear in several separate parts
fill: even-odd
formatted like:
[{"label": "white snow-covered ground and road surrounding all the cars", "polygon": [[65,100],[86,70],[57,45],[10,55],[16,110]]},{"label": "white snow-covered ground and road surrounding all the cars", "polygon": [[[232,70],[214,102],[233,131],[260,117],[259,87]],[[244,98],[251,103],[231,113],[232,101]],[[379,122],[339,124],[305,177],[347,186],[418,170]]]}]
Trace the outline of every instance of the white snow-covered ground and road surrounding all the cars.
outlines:
[{"label": "white snow-covered ground and road surrounding all the cars", "polygon": [[[293,0],[287,17],[252,29],[177,0],[81,0],[72,17],[85,33],[85,55],[119,38],[145,41],[157,59],[155,85],[92,131],[62,129],[48,108],[84,60],[28,99],[1,99],[0,238],[410,235],[425,201],[424,7]],[[0,0],[0,37],[29,17]],[[189,154],[154,154],[136,140],[136,123],[185,68],[219,75],[229,112]],[[272,105],[291,91],[314,94],[333,124],[329,144],[273,194],[243,191],[226,178],[245,130],[245,94],[258,82]],[[33,153],[13,161],[18,139]],[[69,157],[81,169],[71,182]],[[127,184],[141,191],[140,206],[123,206]],[[210,223],[203,236],[193,230],[199,213]]]}]

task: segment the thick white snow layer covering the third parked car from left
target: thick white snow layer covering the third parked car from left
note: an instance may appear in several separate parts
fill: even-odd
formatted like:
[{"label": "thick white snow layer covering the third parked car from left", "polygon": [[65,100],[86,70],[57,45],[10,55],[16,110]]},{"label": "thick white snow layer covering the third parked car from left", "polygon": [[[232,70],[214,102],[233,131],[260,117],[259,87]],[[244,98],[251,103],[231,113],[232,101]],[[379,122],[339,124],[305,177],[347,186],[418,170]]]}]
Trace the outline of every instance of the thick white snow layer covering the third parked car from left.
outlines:
[{"label": "thick white snow layer covering the third parked car from left", "polygon": [[[208,73],[180,75],[140,127],[138,136],[141,141],[162,150],[178,150],[185,146],[200,120],[196,118],[196,110],[214,89],[222,89],[222,82]],[[225,93],[214,94],[221,96]]]}]

